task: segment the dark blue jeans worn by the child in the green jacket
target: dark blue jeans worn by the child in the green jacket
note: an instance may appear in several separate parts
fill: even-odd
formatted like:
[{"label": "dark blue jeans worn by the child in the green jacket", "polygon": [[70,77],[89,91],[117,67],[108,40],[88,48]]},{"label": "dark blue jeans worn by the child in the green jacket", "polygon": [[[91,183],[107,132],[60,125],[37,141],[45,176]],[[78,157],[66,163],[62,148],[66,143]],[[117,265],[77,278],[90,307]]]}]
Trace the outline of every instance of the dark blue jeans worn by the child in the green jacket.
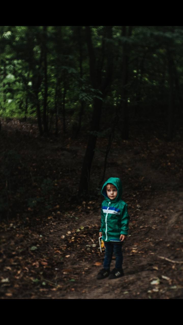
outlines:
[{"label": "dark blue jeans worn by the child in the green jacket", "polygon": [[105,241],[105,256],[104,256],[104,268],[110,268],[113,252],[116,256],[116,268],[122,268],[123,255],[122,255],[122,243],[116,244],[112,241]]}]

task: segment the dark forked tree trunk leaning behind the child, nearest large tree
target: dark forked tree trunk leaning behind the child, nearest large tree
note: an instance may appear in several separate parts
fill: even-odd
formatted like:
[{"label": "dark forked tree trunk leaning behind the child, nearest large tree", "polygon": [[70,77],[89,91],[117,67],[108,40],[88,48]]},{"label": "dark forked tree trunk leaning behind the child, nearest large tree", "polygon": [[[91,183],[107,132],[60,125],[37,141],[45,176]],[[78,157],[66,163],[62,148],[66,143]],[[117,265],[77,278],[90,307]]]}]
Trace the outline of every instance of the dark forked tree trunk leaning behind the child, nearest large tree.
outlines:
[{"label": "dark forked tree trunk leaning behind the child, nearest large tree", "polygon": [[[106,38],[112,39],[112,26],[105,26],[104,34]],[[101,92],[104,94],[105,90],[108,85],[111,83],[112,79],[112,63],[113,63],[113,56],[112,50],[113,46],[110,42],[106,42],[106,77],[102,78],[102,66],[104,60],[98,60],[96,62],[94,49],[91,40],[91,29],[90,26],[86,26],[86,36],[87,36],[87,45],[88,45],[88,52],[89,52],[89,60],[90,60],[90,78],[94,89],[100,89]],[[103,42],[104,45],[104,42]],[[101,48],[102,52],[104,52],[104,46]],[[103,96],[103,95],[102,95]],[[102,112],[102,104],[103,101],[99,98],[95,98],[93,101],[93,114],[91,120],[91,133],[89,135],[87,149],[85,152],[82,171],[81,171],[81,178],[79,183],[78,195],[81,194],[89,194],[89,181],[90,181],[90,171],[91,171],[91,163],[94,156],[94,150],[97,141],[96,133],[99,131],[100,125],[100,118]],[[95,134],[93,134],[95,133]]]}]

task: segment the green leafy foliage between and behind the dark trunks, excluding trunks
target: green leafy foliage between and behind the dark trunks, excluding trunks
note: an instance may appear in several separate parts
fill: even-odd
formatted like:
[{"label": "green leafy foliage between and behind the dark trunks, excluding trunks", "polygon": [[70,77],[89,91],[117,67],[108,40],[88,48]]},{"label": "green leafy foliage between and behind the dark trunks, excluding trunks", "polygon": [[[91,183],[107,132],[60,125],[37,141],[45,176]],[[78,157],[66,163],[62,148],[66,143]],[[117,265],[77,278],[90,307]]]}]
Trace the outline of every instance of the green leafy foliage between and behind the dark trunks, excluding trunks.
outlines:
[{"label": "green leafy foliage between and behind the dark trunks, excluding trunks", "polygon": [[[106,26],[91,26],[97,73],[102,66],[101,75],[98,73],[96,78],[98,81],[106,78],[107,46],[113,48],[112,83],[106,94],[102,94],[91,86],[85,26],[47,26],[46,31],[44,26],[0,26],[0,116],[36,117],[40,110],[43,124],[45,78],[48,80],[48,124],[50,119],[54,124],[56,116],[62,121],[63,105],[69,119],[78,123],[82,102],[84,118],[81,125],[88,125],[95,98],[103,101],[107,119],[110,119],[113,108],[120,107],[126,100],[121,98],[122,87],[128,91],[130,114],[135,111],[137,116],[148,116],[152,110],[157,115],[165,114],[164,108],[169,105],[169,56],[175,65],[176,106],[181,110],[183,27],[133,26],[131,36],[129,27],[113,26],[109,38],[106,37]],[[122,86],[125,55],[129,57],[128,82]]]}]

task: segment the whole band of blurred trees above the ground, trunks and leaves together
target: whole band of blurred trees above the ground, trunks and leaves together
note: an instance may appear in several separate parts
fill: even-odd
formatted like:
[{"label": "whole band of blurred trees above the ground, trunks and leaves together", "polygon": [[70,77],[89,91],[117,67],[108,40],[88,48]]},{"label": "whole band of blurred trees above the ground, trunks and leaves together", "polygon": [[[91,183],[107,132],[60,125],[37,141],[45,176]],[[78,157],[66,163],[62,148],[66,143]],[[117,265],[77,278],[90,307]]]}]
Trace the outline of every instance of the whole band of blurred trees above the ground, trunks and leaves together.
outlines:
[{"label": "whole band of blurred trees above the ground, trunks and leaves together", "polygon": [[160,119],[175,136],[182,44],[183,26],[0,26],[0,117],[36,118],[41,136],[86,134],[87,192],[97,136],[116,127],[128,139],[132,119]]}]

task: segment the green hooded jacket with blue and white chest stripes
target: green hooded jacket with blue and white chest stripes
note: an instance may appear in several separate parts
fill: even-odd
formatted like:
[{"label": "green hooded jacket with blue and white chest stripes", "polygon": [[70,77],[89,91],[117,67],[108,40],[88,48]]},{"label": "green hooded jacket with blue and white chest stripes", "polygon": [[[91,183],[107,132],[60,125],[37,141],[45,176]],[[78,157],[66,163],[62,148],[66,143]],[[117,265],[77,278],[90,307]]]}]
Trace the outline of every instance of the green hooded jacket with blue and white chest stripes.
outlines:
[{"label": "green hooded jacket with blue and white chest stripes", "polygon": [[[110,200],[107,196],[106,185],[113,184],[118,195],[114,200]],[[101,191],[105,200],[102,202],[101,209],[101,228],[102,239],[104,241],[120,242],[120,235],[128,235],[129,215],[127,204],[121,200],[122,183],[118,177],[110,177],[104,183]]]}]

